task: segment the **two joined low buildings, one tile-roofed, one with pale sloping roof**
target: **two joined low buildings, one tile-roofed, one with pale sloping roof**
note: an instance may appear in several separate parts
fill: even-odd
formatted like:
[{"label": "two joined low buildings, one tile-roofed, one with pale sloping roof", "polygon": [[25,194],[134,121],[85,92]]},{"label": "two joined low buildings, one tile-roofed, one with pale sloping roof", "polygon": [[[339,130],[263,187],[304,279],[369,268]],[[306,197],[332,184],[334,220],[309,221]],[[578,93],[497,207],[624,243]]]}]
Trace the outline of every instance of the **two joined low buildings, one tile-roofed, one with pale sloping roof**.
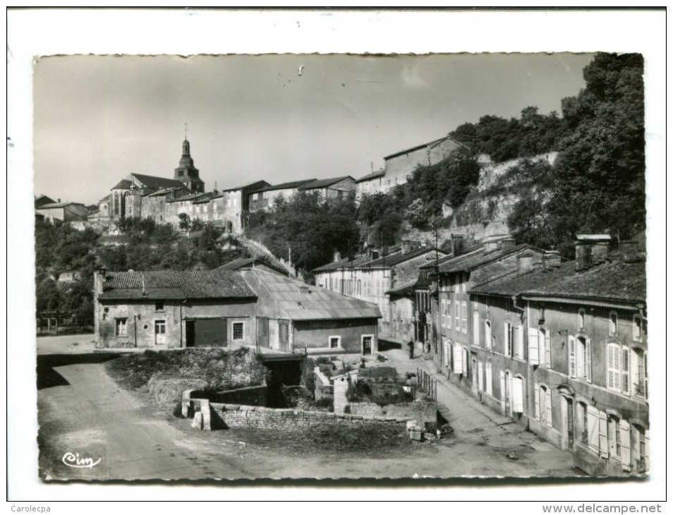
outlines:
[{"label": "two joined low buildings, one tile-roofed, one with pale sloping roof", "polygon": [[98,345],[377,352],[377,305],[289,279],[262,263],[238,263],[236,269],[99,270],[94,277]]}]

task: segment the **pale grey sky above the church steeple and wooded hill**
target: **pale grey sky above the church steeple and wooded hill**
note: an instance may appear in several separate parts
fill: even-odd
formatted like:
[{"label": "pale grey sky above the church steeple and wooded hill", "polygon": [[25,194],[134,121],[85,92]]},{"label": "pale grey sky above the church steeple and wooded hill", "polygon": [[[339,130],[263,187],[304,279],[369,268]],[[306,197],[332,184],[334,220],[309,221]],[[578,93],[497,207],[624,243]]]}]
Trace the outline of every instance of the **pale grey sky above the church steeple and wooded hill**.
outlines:
[{"label": "pale grey sky above the church steeple and wooded hill", "polygon": [[[593,54],[48,56],[34,67],[35,195],[98,202],[172,178],[206,190],[364,176],[487,114],[561,112]],[[301,72],[301,73],[300,73]]]}]

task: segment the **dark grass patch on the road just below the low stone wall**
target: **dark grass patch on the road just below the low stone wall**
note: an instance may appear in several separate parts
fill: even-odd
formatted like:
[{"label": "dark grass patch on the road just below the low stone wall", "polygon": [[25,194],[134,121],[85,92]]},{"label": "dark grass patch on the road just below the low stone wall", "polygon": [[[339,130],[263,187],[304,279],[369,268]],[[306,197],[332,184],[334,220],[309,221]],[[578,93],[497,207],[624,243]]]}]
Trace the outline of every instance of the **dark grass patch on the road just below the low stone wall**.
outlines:
[{"label": "dark grass patch on the road just below the low stone wall", "polygon": [[302,434],[303,440],[335,451],[368,451],[408,444],[406,430],[392,424],[316,425]]}]

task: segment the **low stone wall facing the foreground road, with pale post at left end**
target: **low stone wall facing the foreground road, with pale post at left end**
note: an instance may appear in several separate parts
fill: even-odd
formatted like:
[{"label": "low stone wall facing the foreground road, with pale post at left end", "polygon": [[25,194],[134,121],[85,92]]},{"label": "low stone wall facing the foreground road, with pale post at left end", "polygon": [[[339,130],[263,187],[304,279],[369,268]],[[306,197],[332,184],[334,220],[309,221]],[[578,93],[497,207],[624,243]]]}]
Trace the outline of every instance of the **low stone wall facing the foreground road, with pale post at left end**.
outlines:
[{"label": "low stone wall facing the foreground road, with pale post at left end", "polygon": [[337,415],[327,411],[221,404],[208,402],[205,399],[191,399],[191,402],[195,408],[193,427],[205,430],[242,428],[293,431],[324,424],[395,424],[399,425],[400,429],[404,429],[408,420],[404,417]]}]

